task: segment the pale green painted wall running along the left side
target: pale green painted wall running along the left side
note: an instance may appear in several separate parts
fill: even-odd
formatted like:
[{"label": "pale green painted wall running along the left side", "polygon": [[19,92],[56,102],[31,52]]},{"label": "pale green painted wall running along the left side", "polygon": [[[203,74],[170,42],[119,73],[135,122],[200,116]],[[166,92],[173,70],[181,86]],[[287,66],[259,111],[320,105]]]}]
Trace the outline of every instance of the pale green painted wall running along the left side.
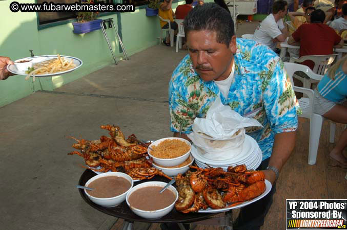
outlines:
[{"label": "pale green painted wall running along the left side", "polygon": [[[210,2],[206,1],[206,2]],[[0,107],[24,98],[36,90],[53,90],[106,65],[114,64],[111,52],[101,30],[86,34],[72,33],[72,24],[58,25],[37,29],[36,13],[13,13],[9,10],[12,1],[0,1],[0,56],[12,60],[30,56],[29,50],[38,55],[61,54],[78,57],[84,64],[78,70],[62,76],[36,78],[35,82],[24,80],[24,76],[12,76],[0,81]],[[35,0],[19,0],[19,3],[34,3]],[[175,9],[184,1],[173,3]],[[160,33],[157,17],[147,17],[145,9],[136,9],[132,13],[112,14],[99,18],[113,18],[118,26],[120,18],[123,43],[128,56],[145,50],[158,43]],[[115,39],[114,29],[106,30],[112,49],[117,59],[123,58],[119,53],[119,44]]]}]

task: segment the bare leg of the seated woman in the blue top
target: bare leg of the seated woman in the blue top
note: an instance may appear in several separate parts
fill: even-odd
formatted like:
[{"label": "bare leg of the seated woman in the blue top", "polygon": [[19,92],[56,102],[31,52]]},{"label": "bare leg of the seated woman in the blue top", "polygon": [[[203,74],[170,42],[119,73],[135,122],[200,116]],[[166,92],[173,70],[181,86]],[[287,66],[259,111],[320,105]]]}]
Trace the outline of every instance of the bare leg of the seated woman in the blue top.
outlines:
[{"label": "bare leg of the seated woman in the blue top", "polygon": [[[343,103],[343,105],[335,105],[331,110],[324,113],[323,117],[338,123],[347,124],[347,102]],[[342,166],[347,167],[347,159],[342,154],[345,147],[347,147],[347,129],[343,130],[336,146],[329,154],[340,162]]]}]

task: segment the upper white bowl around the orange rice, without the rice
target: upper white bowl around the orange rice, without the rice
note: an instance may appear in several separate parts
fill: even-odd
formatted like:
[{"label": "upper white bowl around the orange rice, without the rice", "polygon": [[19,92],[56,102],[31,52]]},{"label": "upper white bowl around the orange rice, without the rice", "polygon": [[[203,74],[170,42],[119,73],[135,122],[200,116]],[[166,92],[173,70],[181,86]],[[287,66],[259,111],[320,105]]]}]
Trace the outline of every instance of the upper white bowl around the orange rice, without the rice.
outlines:
[{"label": "upper white bowl around the orange rice, without the rice", "polygon": [[151,152],[152,150],[148,149],[148,155],[150,155],[150,157],[153,158],[153,162],[158,164],[158,165],[162,165],[162,166],[175,166],[175,165],[179,165],[181,163],[183,163],[190,155],[190,152],[192,151],[192,145],[190,144],[189,141],[187,141],[186,139],[180,138],[180,137],[166,137],[166,138],[162,138],[159,139],[155,142],[153,142],[150,147],[153,146],[157,146],[160,142],[163,142],[165,140],[174,140],[177,139],[179,141],[183,141],[185,143],[187,143],[189,145],[189,151],[187,153],[185,153],[182,156],[176,157],[176,158],[170,158],[170,159],[162,159],[162,158],[158,158],[158,157],[154,157]]}]

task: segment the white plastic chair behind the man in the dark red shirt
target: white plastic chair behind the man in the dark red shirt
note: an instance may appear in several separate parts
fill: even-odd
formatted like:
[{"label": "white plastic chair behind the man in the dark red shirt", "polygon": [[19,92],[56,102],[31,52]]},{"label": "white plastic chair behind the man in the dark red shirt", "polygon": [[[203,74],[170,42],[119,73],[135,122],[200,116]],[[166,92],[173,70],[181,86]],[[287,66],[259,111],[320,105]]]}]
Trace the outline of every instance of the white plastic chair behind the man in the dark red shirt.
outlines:
[{"label": "white plastic chair behind the man in the dark red shirt", "polygon": [[[300,58],[291,57],[289,62],[302,63],[303,61],[311,60],[315,63],[312,70],[313,73],[318,75],[324,75],[326,71],[328,71],[328,68],[330,67],[330,65],[334,62],[336,56],[337,54],[307,55],[307,56],[301,56]],[[294,77],[302,82],[304,88],[311,88],[312,83],[318,82],[316,80],[306,79],[298,75],[294,75]]]}]

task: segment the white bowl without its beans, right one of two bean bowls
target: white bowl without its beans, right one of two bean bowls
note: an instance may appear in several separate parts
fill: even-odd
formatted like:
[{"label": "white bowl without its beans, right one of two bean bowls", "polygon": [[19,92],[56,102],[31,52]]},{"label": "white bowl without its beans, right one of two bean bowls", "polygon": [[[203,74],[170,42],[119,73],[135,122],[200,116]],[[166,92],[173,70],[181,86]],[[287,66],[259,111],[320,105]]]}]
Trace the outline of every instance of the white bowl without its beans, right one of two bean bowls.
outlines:
[{"label": "white bowl without its beans, right one of two bean bowls", "polygon": [[[172,204],[170,204],[169,206],[167,206],[164,209],[159,209],[159,210],[155,210],[155,211],[144,211],[144,210],[136,209],[129,204],[129,196],[133,192],[135,192],[136,190],[141,189],[141,188],[145,188],[145,187],[149,187],[149,186],[159,186],[159,187],[164,188],[167,184],[168,183],[160,182],[160,181],[149,181],[149,182],[140,183],[139,185],[135,186],[134,188],[132,188],[128,192],[127,197],[126,197],[126,201],[127,201],[129,208],[136,215],[143,217],[143,218],[146,218],[146,219],[158,219],[158,218],[161,218],[161,217],[167,215],[168,213],[171,212],[171,210],[173,210],[175,202],[178,199],[178,192],[173,186],[170,186],[168,189],[171,190],[175,194],[176,198],[175,198],[174,202],[172,202]],[[148,194],[148,195],[152,195],[152,194]]]}]

